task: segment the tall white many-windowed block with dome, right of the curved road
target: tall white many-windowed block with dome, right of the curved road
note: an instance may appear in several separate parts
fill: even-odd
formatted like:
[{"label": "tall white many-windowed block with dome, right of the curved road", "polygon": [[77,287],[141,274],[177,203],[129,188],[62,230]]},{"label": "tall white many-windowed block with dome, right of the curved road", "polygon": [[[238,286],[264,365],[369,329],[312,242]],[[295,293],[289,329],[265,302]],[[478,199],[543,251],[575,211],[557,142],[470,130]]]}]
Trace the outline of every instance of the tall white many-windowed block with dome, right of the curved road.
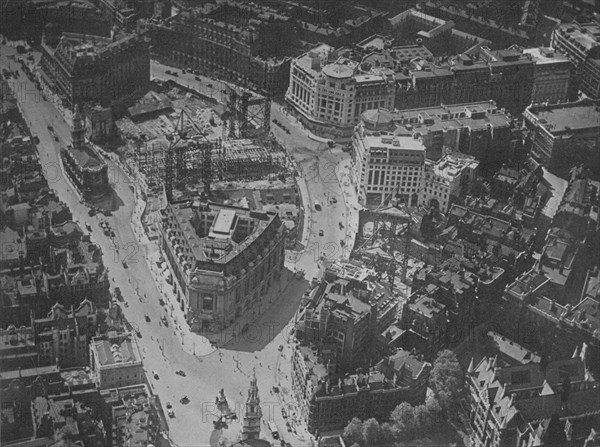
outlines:
[{"label": "tall white many-windowed block with dome, right of the curved road", "polygon": [[377,125],[392,123],[385,110],[369,110],[352,136],[356,184],[362,204],[391,198],[416,206],[425,166],[425,145],[410,133],[386,134]]}]

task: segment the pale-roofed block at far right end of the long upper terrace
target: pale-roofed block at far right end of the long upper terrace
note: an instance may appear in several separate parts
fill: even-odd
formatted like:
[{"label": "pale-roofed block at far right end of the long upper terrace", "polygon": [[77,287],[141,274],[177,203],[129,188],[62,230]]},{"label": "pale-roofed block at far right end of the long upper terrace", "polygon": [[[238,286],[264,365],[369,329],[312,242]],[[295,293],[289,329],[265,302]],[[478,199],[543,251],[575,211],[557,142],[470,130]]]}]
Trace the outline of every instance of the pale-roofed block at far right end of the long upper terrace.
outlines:
[{"label": "pale-roofed block at far right end of the long upper terrace", "polygon": [[531,102],[564,102],[569,99],[573,82],[573,64],[553,48],[526,48],[524,54],[533,59]]}]

